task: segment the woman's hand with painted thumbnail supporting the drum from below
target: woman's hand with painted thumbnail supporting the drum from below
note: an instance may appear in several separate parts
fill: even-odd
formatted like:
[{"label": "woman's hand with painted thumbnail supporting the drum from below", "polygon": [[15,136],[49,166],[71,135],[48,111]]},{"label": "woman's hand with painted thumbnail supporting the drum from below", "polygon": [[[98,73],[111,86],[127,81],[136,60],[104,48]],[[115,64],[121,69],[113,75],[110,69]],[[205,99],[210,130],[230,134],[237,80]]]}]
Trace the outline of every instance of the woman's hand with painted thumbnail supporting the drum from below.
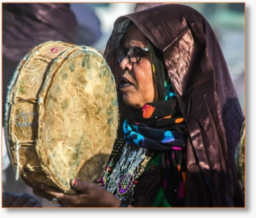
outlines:
[{"label": "woman's hand with painted thumbnail supporting the drum from below", "polygon": [[121,200],[107,192],[102,186],[93,182],[72,179],[70,185],[77,194],[64,194],[55,188],[39,185],[41,190],[33,192],[51,201],[56,198],[58,203],[66,207],[118,207]]}]

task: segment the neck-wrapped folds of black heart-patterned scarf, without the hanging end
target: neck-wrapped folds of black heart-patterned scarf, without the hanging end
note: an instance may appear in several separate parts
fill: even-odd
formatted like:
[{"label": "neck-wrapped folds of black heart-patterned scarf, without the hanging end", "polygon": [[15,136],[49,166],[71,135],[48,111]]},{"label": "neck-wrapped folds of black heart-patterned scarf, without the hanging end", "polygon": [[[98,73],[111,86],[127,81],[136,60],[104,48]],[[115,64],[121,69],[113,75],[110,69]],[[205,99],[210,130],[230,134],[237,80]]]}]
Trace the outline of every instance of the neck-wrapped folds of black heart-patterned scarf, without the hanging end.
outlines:
[{"label": "neck-wrapped folds of black heart-patterned scarf, without the hanging end", "polygon": [[123,122],[124,140],[152,150],[184,149],[185,123],[176,105],[173,99],[145,104]]}]

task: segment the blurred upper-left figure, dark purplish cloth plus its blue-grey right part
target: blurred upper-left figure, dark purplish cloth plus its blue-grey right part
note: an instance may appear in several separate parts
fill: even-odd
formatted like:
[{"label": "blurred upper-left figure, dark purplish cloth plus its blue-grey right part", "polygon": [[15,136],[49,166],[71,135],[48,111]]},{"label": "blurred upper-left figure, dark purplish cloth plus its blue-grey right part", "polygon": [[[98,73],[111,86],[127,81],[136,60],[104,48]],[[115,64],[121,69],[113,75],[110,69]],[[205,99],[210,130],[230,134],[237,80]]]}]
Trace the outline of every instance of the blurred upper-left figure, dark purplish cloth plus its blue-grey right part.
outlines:
[{"label": "blurred upper-left figure, dark purplish cloth plus its blue-grey right part", "polygon": [[3,105],[12,74],[31,48],[46,41],[91,46],[101,35],[88,4],[3,3]]}]

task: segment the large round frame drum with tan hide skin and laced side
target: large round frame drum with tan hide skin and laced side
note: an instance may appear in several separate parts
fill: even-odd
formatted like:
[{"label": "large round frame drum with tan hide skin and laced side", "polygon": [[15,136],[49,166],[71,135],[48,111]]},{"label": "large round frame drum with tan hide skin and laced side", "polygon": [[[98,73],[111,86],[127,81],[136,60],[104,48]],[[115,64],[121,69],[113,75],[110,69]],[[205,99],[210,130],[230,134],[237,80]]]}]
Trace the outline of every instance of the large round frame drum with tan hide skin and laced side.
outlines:
[{"label": "large round frame drum with tan hide skin and laced side", "polygon": [[69,181],[95,181],[118,127],[114,77],[98,51],[49,41],[33,48],[8,87],[8,156],[29,186],[74,194]]}]

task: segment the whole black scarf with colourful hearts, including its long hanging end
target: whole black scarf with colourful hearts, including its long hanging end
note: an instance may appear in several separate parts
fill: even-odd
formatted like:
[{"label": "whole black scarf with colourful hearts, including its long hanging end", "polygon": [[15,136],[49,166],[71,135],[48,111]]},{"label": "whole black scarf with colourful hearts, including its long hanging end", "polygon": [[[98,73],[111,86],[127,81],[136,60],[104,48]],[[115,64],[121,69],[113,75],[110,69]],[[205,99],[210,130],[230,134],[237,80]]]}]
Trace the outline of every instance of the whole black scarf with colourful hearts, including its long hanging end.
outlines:
[{"label": "whole black scarf with colourful hearts, including its long hanging end", "polygon": [[[177,113],[178,112],[178,113]],[[183,206],[185,197],[185,122],[176,96],[145,104],[123,123],[126,143],[161,152],[165,197],[171,206]]]}]

